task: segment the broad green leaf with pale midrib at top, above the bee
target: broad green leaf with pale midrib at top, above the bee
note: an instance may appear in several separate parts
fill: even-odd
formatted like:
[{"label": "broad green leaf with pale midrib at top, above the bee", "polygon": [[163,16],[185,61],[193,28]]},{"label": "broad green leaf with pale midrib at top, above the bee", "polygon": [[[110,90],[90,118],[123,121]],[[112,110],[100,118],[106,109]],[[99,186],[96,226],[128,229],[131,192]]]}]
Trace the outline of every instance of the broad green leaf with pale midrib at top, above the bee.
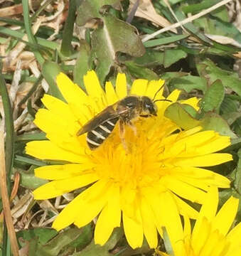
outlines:
[{"label": "broad green leaf with pale midrib at top, above the bee", "polygon": [[[96,60],[96,72],[100,82],[105,81],[110,68],[117,62],[116,53],[122,52],[140,57],[145,53],[136,28],[109,14],[108,6],[117,7],[116,0],[85,0],[77,9],[77,24],[85,25],[98,18],[98,27],[92,32],[92,55]],[[101,47],[100,47],[101,46]]]}]

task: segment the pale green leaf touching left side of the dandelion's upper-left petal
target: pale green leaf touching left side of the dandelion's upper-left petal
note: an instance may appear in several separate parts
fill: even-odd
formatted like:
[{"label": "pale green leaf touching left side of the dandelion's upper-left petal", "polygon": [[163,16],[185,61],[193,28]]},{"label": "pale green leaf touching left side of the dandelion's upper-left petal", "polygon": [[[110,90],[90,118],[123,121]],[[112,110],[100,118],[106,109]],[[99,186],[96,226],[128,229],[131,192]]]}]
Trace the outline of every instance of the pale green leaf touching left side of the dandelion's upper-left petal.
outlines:
[{"label": "pale green leaf touching left side of the dandelion's upper-left petal", "polygon": [[46,60],[43,63],[42,75],[43,78],[48,82],[50,87],[50,94],[58,97],[60,100],[64,100],[58,86],[56,84],[56,76],[61,72],[60,66],[57,63]]}]

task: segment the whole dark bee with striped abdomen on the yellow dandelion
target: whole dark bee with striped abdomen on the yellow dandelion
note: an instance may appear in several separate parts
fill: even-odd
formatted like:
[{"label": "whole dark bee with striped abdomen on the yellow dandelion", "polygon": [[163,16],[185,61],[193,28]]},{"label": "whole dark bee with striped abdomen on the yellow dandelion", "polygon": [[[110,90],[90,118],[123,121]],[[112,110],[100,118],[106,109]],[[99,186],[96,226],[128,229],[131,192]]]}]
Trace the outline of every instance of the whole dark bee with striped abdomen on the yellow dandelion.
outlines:
[{"label": "whole dark bee with striped abdomen on the yellow dandelion", "polygon": [[[161,90],[161,89],[159,89]],[[159,91],[158,91],[159,92]],[[157,94],[157,92],[156,92]],[[155,96],[156,96],[155,94]],[[154,96],[154,97],[155,97]],[[91,150],[97,149],[112,133],[117,122],[122,144],[124,143],[124,125],[128,124],[136,134],[136,128],[132,121],[137,117],[152,117],[157,115],[155,102],[163,100],[151,100],[147,96],[127,96],[113,105],[109,105],[95,117],[90,119],[78,132],[77,136],[87,132],[87,144]],[[170,100],[164,100],[170,101]],[[124,146],[126,148],[126,146]]]}]

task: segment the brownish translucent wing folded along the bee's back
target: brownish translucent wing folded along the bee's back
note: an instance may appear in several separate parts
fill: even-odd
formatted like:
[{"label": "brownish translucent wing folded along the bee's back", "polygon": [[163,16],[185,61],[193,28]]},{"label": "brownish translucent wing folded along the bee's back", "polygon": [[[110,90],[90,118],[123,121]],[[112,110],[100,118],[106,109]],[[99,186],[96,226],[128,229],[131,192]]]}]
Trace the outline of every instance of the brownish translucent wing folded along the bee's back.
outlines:
[{"label": "brownish translucent wing folded along the bee's back", "polygon": [[77,132],[77,136],[80,136],[81,134],[84,134],[85,132],[90,132],[92,129],[95,129],[97,126],[99,126],[103,122],[107,122],[108,120],[114,119],[115,117],[119,117],[120,114],[127,112],[127,110],[123,110],[122,112],[117,112],[116,110],[114,110],[116,105],[117,104],[106,107],[105,110],[102,110],[102,112],[100,112],[95,117],[90,119],[90,121],[87,122],[87,124],[85,124]]}]

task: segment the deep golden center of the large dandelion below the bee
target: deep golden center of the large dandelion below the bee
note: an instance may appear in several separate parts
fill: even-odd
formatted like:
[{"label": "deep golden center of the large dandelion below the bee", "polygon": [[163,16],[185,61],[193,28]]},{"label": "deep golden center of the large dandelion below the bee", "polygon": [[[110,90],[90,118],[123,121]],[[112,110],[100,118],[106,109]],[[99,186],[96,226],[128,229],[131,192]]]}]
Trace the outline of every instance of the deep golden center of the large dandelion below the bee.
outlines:
[{"label": "deep golden center of the large dandelion below the bee", "polygon": [[[166,174],[164,162],[161,159],[165,146],[161,144],[164,133],[152,128],[155,119],[139,120],[135,124],[136,134],[132,127],[125,126],[124,140],[119,137],[119,126],[112,134],[93,151],[96,161],[96,171],[100,178],[111,179],[120,187],[128,186],[136,189],[159,182]],[[165,129],[166,131],[166,129]]]}]

